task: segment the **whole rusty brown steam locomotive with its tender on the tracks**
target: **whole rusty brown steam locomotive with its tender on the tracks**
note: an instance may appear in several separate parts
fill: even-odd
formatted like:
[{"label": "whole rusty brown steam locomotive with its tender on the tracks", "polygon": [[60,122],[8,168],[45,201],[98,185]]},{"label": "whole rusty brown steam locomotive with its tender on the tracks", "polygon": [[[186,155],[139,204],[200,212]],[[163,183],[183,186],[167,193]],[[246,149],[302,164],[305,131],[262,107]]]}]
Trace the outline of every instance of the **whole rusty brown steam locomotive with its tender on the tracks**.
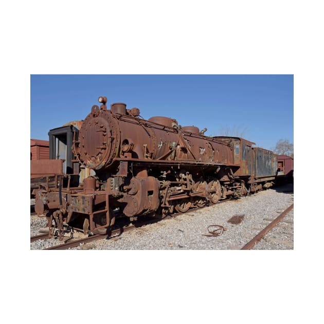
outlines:
[{"label": "whole rusty brown steam locomotive with its tender on the tracks", "polygon": [[88,170],[82,181],[72,186],[61,168],[54,187],[35,191],[35,211],[47,211],[50,232],[61,235],[69,225],[104,235],[117,217],[136,222],[185,212],[274,183],[277,156],[253,142],[207,137],[206,129],[167,117],[145,120],[137,108],[114,103],[108,109],[106,101],[99,97],[101,105],[69,135],[70,173]]}]

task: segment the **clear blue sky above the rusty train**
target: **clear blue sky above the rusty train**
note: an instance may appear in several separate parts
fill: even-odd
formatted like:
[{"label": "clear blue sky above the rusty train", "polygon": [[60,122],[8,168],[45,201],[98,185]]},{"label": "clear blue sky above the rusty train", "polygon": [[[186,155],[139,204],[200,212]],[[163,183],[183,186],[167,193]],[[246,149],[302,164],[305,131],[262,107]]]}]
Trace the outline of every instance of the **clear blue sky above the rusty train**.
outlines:
[{"label": "clear blue sky above the rusty train", "polygon": [[124,102],[140,115],[166,116],[178,123],[225,129],[265,149],[279,139],[293,143],[293,75],[31,75],[30,138],[48,140],[48,131],[84,119],[99,96],[107,105]]}]

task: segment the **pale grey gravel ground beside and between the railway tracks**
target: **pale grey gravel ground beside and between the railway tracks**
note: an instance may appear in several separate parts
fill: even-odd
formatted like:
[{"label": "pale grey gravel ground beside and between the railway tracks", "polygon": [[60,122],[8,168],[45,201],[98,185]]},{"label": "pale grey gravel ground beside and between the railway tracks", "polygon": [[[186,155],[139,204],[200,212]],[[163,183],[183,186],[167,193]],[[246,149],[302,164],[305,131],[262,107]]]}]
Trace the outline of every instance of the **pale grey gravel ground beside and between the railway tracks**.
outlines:
[{"label": "pale grey gravel ground beside and between the railway tracks", "polygon": [[[122,233],[119,237],[99,240],[73,249],[240,249],[271,220],[293,204],[293,192],[282,192],[289,189],[293,189],[292,185],[261,191],[239,200],[187,212],[174,219],[162,220]],[[244,215],[241,223],[235,225],[227,222],[233,215],[238,214]],[[286,219],[287,223],[280,223],[279,227],[268,234],[266,240],[259,242],[254,249],[293,249],[293,210],[285,217]],[[31,235],[35,235],[32,229],[34,225],[44,226],[43,220],[46,222],[45,219],[31,218]],[[222,225],[227,230],[219,237],[203,236],[208,234],[209,225]],[[44,248],[49,244],[47,241],[51,240],[33,242],[30,248]]]}]

